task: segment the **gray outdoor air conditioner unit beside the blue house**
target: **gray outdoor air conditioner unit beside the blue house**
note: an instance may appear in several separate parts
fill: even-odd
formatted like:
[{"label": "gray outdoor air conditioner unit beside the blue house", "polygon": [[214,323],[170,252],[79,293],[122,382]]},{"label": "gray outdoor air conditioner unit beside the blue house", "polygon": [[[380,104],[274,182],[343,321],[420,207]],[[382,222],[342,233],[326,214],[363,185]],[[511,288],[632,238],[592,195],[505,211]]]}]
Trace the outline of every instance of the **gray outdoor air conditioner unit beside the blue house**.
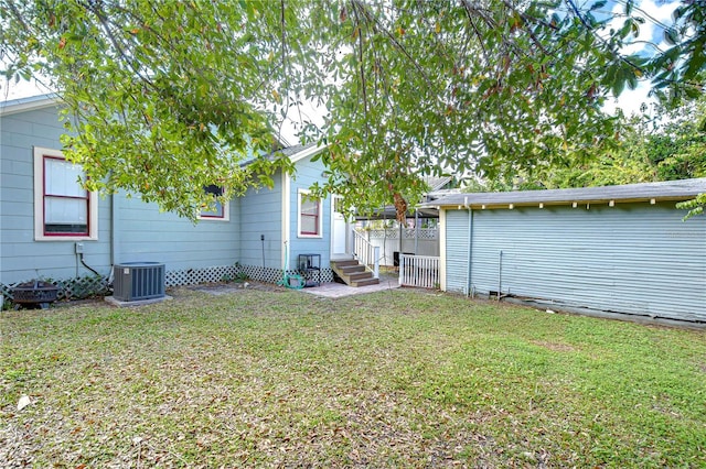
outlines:
[{"label": "gray outdoor air conditioner unit beside the blue house", "polygon": [[113,297],[121,302],[164,296],[164,264],[124,262],[113,268]]}]

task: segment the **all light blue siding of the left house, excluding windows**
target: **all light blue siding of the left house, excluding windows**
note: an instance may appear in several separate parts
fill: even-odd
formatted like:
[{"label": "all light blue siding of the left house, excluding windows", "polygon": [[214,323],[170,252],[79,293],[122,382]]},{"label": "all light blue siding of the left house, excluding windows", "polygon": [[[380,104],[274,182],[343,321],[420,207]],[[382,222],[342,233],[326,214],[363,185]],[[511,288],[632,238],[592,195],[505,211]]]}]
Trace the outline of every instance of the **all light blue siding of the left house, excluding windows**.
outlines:
[{"label": "all light blue siding of the left house, excluding windows", "polygon": [[[41,106],[41,102],[38,101]],[[19,109],[19,108],[18,108]],[[61,150],[64,132],[53,105],[41,109],[6,113],[0,119],[0,282],[13,284],[38,277],[64,280],[88,275],[75,253],[75,241],[34,240],[33,148]],[[328,266],[331,227],[329,199],[322,207],[321,239],[297,238],[297,189],[321,181],[323,165],[304,159],[296,163],[290,181],[290,259],[300,252],[322,254]],[[202,219],[196,225],[174,214],[161,212],[139,195],[97,198],[98,240],[81,240],[85,262],[104,275],[111,263],[157,261],[167,271],[212,266],[282,266],[282,201],[280,173],[272,189],[250,189],[231,200],[228,220]],[[115,207],[114,205],[115,204]],[[265,242],[260,240],[265,236]],[[264,249],[263,249],[264,248]]]}]

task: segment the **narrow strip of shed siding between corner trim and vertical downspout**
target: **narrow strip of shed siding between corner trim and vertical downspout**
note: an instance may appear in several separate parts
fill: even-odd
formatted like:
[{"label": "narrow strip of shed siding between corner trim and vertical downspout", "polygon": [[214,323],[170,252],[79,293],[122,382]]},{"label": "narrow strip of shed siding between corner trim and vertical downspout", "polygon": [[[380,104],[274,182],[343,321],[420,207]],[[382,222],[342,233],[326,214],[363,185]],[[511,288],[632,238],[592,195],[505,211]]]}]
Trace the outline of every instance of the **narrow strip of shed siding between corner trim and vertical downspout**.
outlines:
[{"label": "narrow strip of shed siding between corner trim and vertical downspout", "polygon": [[446,214],[446,291],[468,293],[468,210]]}]

